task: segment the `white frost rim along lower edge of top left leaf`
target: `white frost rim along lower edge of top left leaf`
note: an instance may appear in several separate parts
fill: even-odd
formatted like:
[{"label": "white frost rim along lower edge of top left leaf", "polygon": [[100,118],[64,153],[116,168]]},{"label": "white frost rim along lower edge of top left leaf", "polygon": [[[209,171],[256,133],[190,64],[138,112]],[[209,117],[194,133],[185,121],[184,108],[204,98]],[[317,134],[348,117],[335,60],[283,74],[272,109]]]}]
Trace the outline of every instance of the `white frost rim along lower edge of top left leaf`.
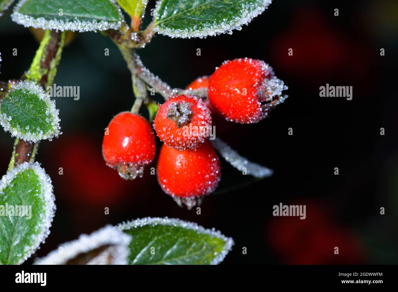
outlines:
[{"label": "white frost rim along lower edge of top left leaf", "polygon": [[65,18],[65,21],[58,19],[45,19],[44,17],[35,18],[33,16],[21,14],[18,10],[29,0],[21,0],[13,10],[11,14],[12,21],[23,25],[24,27],[34,27],[41,29],[55,29],[57,31],[106,31],[107,29],[119,29],[121,27],[124,17],[121,13],[121,9],[116,4],[115,0],[110,0],[113,5],[115,5],[117,11],[119,12],[119,17],[121,20],[117,22],[109,22],[106,20],[97,21],[80,21],[75,17],[74,19]]}]

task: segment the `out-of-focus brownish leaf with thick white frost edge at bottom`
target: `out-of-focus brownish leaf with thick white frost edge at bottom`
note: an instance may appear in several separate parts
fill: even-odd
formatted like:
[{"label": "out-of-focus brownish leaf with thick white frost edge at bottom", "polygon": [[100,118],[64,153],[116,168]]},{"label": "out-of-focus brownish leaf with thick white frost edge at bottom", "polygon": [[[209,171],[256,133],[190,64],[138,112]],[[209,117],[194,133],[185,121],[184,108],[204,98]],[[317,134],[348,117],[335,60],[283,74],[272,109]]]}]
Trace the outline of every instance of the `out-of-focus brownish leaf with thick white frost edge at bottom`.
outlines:
[{"label": "out-of-focus brownish leaf with thick white frost edge at bottom", "polygon": [[61,244],[35,265],[127,265],[131,236],[107,225]]}]

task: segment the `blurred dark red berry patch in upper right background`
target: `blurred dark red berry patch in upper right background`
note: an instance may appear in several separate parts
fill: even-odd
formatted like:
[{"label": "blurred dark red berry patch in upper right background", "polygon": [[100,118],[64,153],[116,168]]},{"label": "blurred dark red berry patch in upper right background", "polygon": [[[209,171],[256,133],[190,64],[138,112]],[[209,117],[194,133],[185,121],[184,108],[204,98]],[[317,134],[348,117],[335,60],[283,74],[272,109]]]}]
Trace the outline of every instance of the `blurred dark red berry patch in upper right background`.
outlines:
[{"label": "blurred dark red berry patch in upper right background", "polygon": [[269,62],[275,70],[301,81],[311,80],[308,86],[314,85],[314,81],[332,82],[333,78],[352,82],[373,77],[370,62],[378,50],[371,52],[369,43],[345,37],[331,19],[334,18],[316,8],[297,10],[286,29],[268,46],[272,56]]}]

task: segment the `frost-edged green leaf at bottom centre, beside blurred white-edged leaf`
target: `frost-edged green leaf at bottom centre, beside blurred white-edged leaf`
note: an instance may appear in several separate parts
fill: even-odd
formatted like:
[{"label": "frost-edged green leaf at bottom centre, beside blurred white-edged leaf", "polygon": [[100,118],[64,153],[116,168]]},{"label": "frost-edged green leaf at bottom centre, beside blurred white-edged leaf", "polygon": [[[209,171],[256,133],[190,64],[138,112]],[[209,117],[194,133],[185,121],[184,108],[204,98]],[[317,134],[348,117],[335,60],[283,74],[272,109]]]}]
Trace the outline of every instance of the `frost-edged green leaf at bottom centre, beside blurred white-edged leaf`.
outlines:
[{"label": "frost-edged green leaf at bottom centre, beside blurred white-edged leaf", "polygon": [[214,228],[167,217],[147,217],[117,227],[133,237],[131,265],[217,265],[234,244]]}]

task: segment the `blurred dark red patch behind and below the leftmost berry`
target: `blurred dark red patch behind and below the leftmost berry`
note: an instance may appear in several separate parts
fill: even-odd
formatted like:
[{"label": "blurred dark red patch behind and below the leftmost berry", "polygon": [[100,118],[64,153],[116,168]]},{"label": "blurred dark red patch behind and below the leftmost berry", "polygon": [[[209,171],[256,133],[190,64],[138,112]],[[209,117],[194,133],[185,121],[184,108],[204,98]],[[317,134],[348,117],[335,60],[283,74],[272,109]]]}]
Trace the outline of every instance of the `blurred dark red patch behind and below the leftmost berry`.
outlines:
[{"label": "blurred dark red patch behind and below the leftmost berry", "polygon": [[[62,175],[53,174],[51,178],[63,190],[62,199],[70,203],[87,204],[86,207],[119,206],[127,196],[133,193],[140,196],[139,190],[142,179],[133,181],[122,180],[109,168],[102,158],[101,141],[90,135],[62,135],[53,141],[50,150],[57,155],[51,155],[54,160],[51,164],[62,167]],[[57,144],[57,145],[55,145]],[[149,172],[145,172],[149,176]]]}]

